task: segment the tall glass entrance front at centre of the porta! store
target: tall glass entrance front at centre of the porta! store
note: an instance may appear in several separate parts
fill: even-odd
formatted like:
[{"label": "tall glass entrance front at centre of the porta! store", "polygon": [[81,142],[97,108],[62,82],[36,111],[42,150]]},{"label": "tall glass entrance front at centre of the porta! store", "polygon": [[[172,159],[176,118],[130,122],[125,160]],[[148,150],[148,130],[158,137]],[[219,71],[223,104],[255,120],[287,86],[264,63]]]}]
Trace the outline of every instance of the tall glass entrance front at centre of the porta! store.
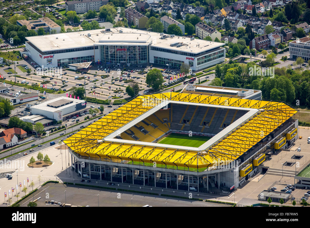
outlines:
[{"label": "tall glass entrance front at centre of the porta! store", "polygon": [[101,61],[112,64],[143,64],[148,62],[148,46],[102,45]]}]

